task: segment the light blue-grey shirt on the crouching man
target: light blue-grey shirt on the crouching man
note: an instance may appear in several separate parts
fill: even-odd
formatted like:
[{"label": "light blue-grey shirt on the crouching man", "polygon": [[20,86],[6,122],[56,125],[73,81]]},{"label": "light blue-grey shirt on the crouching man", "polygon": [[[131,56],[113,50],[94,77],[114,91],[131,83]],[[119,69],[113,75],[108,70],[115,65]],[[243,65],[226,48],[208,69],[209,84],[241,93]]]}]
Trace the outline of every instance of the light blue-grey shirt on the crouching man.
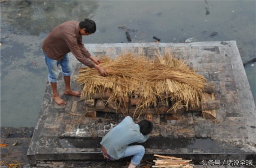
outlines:
[{"label": "light blue-grey shirt on the crouching man", "polygon": [[101,145],[107,150],[108,155],[118,160],[124,155],[129,144],[142,143],[148,138],[149,135],[141,134],[140,126],[127,116],[102,138]]}]

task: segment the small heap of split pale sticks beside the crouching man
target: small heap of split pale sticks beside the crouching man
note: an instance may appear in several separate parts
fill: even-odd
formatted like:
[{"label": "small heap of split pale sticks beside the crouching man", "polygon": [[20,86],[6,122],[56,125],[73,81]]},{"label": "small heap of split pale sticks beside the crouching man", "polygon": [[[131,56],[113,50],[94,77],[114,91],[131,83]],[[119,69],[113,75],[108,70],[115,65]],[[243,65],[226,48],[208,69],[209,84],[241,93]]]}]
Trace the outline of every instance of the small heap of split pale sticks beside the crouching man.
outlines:
[{"label": "small heap of split pale sticks beside the crouching man", "polygon": [[152,168],[193,168],[193,164],[189,164],[192,160],[183,160],[173,156],[154,155],[156,160]]}]

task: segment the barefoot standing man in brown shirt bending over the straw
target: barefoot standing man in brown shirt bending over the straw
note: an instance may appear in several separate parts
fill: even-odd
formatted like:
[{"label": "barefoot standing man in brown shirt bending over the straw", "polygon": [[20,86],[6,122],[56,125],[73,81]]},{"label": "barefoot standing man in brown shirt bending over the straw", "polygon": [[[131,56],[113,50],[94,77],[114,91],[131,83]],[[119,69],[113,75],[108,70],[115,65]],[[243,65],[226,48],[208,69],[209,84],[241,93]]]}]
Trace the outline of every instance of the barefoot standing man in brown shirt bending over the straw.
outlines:
[{"label": "barefoot standing man in brown shirt bending over the straw", "polygon": [[[50,34],[43,41],[42,49],[45,55],[45,62],[48,67],[49,75],[48,81],[51,83],[53,91],[53,100],[58,105],[67,104],[61,99],[57,92],[57,77],[58,66],[61,66],[61,72],[65,81],[64,94],[72,96],[80,96],[78,91],[70,88],[71,75],[71,59],[67,53],[72,52],[77,60],[82,64],[97,69],[101,75],[105,76],[108,73],[98,64],[101,61],[93,57],[84,47],[82,43],[82,35],[90,35],[96,31],[96,24],[93,20],[85,19],[84,21],[67,21],[55,27]],[[90,60],[92,61],[90,61]]]}]

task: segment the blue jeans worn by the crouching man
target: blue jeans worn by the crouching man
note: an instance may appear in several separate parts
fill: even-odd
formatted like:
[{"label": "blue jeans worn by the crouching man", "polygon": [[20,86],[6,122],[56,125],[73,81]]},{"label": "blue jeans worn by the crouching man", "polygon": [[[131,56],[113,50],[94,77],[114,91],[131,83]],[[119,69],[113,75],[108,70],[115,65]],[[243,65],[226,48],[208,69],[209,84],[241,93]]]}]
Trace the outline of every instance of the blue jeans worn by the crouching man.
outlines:
[{"label": "blue jeans worn by the crouching man", "polygon": [[142,145],[128,146],[121,158],[132,156],[131,164],[137,166],[141,163],[141,159],[145,154],[145,148]]}]

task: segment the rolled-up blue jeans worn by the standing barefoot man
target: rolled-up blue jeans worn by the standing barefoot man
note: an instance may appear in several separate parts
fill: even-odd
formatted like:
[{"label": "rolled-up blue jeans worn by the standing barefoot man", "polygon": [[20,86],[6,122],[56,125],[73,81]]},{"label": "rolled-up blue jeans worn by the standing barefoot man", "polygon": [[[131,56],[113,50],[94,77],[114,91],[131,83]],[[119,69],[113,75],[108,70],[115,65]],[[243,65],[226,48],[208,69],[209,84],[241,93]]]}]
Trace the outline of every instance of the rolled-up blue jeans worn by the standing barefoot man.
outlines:
[{"label": "rolled-up blue jeans worn by the standing barefoot man", "polygon": [[48,67],[49,75],[48,75],[48,81],[49,82],[56,82],[59,72],[58,72],[58,66],[61,65],[61,73],[64,76],[70,76],[72,72],[72,65],[70,61],[70,57],[66,54],[62,60],[53,60],[49,58],[45,52],[45,63]]}]

